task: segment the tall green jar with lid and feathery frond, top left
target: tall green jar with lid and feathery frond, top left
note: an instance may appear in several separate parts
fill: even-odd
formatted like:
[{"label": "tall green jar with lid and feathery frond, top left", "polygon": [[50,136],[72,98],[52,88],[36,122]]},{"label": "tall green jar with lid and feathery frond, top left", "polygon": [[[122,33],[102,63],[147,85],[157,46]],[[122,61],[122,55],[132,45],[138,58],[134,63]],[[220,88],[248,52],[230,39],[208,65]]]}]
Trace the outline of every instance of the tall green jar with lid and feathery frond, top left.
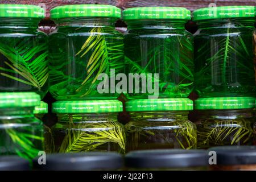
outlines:
[{"label": "tall green jar with lid and feathery frond, top left", "polygon": [[0,92],[48,92],[48,38],[38,30],[44,10],[0,5]]}]

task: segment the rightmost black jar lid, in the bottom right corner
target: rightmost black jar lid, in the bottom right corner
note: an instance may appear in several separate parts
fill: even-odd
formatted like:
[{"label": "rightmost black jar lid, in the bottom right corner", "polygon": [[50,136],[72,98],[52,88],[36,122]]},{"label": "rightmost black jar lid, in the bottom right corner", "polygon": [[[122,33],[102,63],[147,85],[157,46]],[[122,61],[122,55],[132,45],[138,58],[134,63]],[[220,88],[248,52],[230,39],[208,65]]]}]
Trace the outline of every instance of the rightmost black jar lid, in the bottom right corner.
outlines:
[{"label": "rightmost black jar lid, in the bottom right corner", "polygon": [[255,146],[220,146],[209,151],[216,151],[217,165],[256,164]]}]

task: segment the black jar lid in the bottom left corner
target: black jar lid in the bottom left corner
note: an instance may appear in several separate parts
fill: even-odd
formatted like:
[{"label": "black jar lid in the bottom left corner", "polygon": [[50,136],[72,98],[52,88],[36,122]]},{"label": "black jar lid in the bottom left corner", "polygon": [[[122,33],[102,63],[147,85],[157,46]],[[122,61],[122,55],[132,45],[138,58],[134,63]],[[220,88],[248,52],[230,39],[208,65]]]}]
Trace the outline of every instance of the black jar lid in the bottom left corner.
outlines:
[{"label": "black jar lid in the bottom left corner", "polygon": [[1,156],[0,157],[0,171],[28,171],[30,163],[28,160],[20,158],[19,156]]}]

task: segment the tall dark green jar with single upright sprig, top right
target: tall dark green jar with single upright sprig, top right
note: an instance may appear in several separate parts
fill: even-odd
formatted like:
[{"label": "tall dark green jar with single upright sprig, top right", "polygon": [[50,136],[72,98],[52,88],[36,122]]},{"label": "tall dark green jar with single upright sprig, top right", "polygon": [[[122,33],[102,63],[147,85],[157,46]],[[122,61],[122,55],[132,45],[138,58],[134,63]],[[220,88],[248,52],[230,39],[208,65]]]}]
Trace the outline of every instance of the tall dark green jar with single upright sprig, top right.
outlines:
[{"label": "tall dark green jar with single upright sprig, top right", "polygon": [[253,6],[220,6],[193,12],[195,88],[199,97],[255,96]]}]

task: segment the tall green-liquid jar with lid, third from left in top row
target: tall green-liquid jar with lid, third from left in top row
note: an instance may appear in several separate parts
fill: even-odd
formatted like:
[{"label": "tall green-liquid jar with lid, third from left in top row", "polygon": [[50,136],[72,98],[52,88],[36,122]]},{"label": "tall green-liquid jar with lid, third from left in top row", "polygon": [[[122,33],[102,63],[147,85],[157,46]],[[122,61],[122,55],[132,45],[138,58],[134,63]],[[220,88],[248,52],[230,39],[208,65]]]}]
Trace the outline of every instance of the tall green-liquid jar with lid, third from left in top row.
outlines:
[{"label": "tall green-liquid jar with lid, third from left in top row", "polygon": [[[187,98],[193,89],[193,36],[183,7],[134,7],[123,11],[125,73],[129,99]],[[137,75],[135,75],[137,74]],[[138,76],[138,77],[135,77]],[[130,80],[133,79],[133,80]],[[145,84],[146,83],[146,84]],[[146,87],[147,86],[147,87]]]}]

